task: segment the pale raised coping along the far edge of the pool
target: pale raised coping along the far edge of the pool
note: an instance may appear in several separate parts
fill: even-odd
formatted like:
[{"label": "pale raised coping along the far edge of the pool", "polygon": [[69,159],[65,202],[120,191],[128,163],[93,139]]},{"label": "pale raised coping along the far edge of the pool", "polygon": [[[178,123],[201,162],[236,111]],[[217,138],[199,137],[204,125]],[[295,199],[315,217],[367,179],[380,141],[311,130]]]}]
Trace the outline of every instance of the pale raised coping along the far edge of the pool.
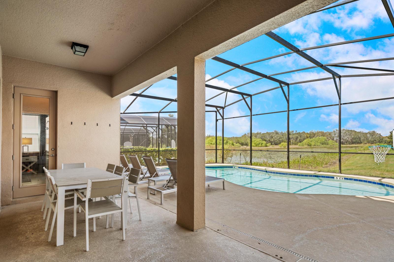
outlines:
[{"label": "pale raised coping along the far edge of the pool", "polygon": [[[274,173],[279,175],[295,175],[301,177],[320,177],[335,180],[344,181],[358,181],[363,183],[369,183],[373,185],[386,186],[388,188],[394,189],[394,179],[383,178],[383,177],[366,177],[362,175],[349,175],[349,174],[336,174],[328,172],[318,172],[318,171],[307,171],[307,170],[296,170],[296,169],[284,169],[284,168],[271,168],[265,166],[247,166],[247,165],[237,165],[237,164],[221,164],[221,163],[209,163],[205,164],[207,168],[213,167],[238,167],[243,169],[258,170],[267,173]],[[340,179],[343,178],[343,179]]]}]

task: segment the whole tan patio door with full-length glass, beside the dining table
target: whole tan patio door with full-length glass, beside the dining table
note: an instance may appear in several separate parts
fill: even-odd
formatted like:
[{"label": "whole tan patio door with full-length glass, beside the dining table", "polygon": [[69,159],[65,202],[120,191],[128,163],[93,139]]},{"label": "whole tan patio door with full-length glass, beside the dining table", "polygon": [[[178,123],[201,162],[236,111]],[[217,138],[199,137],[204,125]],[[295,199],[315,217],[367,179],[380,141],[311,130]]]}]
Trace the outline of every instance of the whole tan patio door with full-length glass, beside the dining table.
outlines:
[{"label": "whole tan patio door with full-length glass, beside the dining table", "polygon": [[13,198],[45,193],[45,173],[56,168],[56,92],[14,89]]}]

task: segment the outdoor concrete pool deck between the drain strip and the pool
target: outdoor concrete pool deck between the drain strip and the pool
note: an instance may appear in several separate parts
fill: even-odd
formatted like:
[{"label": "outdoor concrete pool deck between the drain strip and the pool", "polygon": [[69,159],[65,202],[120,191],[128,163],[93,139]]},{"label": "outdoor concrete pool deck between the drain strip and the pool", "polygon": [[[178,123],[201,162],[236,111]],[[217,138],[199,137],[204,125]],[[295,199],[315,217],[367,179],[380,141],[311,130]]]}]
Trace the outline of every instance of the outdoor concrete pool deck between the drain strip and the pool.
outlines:
[{"label": "outdoor concrete pool deck between the drain strip and the pool", "polygon": [[[146,189],[140,192],[146,199]],[[176,193],[164,199],[162,207],[177,212]],[[160,206],[160,196],[150,201]],[[207,227],[283,261],[394,261],[392,196],[289,194],[229,182],[223,190],[217,183],[206,187],[206,218]]]}]

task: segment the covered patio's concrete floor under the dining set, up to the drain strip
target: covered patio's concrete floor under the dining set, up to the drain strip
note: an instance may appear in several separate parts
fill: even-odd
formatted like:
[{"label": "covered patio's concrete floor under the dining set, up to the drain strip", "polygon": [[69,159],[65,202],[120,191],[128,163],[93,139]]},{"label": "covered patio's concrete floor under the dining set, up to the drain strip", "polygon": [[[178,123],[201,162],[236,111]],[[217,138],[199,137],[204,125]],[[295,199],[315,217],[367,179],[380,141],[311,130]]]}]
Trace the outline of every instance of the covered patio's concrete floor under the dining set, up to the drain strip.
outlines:
[{"label": "covered patio's concrete floor under the dining set, up to the drain strip", "polygon": [[[277,259],[212,229],[191,232],[179,227],[176,214],[141,199],[138,213],[128,216],[126,240],[122,240],[120,214],[114,228],[90,222],[89,252],[85,251],[84,215],[77,217],[72,237],[72,211],[66,210],[65,245],[56,247],[56,231],[47,242],[41,201],[2,207],[0,212],[0,261],[264,261]],[[137,210],[136,201],[132,202]]]}]

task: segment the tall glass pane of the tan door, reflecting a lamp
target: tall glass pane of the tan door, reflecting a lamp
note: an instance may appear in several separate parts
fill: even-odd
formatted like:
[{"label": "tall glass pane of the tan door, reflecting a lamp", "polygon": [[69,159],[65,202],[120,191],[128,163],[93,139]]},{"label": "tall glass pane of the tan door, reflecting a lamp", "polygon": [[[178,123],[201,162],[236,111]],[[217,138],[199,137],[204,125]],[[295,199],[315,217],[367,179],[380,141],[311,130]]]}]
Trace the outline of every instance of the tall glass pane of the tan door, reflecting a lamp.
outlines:
[{"label": "tall glass pane of the tan door, reflecting a lamp", "polygon": [[45,184],[49,166],[49,98],[22,96],[21,186]]}]

